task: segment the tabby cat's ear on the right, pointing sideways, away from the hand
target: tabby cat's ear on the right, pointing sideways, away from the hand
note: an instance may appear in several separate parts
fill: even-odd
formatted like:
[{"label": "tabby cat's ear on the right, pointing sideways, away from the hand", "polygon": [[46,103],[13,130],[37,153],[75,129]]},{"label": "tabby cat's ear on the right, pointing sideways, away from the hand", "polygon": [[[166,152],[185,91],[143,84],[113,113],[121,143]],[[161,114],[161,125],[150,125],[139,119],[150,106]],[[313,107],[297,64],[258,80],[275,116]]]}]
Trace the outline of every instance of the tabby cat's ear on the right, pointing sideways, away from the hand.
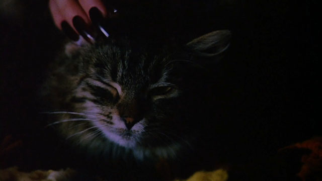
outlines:
[{"label": "tabby cat's ear on the right, pointing sideways, away from the hand", "polygon": [[212,57],[228,48],[230,37],[229,30],[218,30],[196,38],[186,46],[197,56]]}]

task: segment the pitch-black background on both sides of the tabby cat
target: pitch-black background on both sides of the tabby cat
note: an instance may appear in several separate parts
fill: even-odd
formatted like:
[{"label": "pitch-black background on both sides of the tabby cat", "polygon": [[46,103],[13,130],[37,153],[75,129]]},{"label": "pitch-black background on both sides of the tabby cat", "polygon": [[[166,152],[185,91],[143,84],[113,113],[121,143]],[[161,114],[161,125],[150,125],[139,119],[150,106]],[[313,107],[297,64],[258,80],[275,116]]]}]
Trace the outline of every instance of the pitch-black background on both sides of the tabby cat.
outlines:
[{"label": "pitch-black background on both sides of the tabby cat", "polygon": [[[54,27],[46,1],[4,8],[6,2],[0,11],[0,150],[13,148],[2,151],[0,166],[47,168],[41,158],[50,156],[48,145],[56,138],[44,137],[49,131],[36,98],[64,35]],[[163,36],[178,34],[184,42],[217,29],[232,32],[227,61],[218,70],[218,117],[229,120],[227,137],[235,140],[240,162],[261,163],[255,160],[321,136],[315,1],[164,2],[163,8],[177,16],[160,19],[167,22]]]}]

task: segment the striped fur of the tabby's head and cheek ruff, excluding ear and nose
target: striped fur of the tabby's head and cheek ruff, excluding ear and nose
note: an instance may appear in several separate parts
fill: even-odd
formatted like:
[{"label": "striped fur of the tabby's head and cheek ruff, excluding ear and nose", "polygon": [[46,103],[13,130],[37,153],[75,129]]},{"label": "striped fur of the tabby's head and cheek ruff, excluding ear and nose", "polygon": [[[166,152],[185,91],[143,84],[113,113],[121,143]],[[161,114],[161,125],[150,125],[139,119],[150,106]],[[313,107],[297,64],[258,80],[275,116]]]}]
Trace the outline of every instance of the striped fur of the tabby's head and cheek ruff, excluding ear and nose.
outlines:
[{"label": "striped fur of the tabby's head and cheek ruff, excluding ear and nose", "polygon": [[[100,152],[175,157],[189,146],[176,61],[115,45],[65,57],[47,81],[45,99],[64,137]],[[135,124],[129,129],[125,118]],[[186,124],[188,125],[188,124]]]}]

